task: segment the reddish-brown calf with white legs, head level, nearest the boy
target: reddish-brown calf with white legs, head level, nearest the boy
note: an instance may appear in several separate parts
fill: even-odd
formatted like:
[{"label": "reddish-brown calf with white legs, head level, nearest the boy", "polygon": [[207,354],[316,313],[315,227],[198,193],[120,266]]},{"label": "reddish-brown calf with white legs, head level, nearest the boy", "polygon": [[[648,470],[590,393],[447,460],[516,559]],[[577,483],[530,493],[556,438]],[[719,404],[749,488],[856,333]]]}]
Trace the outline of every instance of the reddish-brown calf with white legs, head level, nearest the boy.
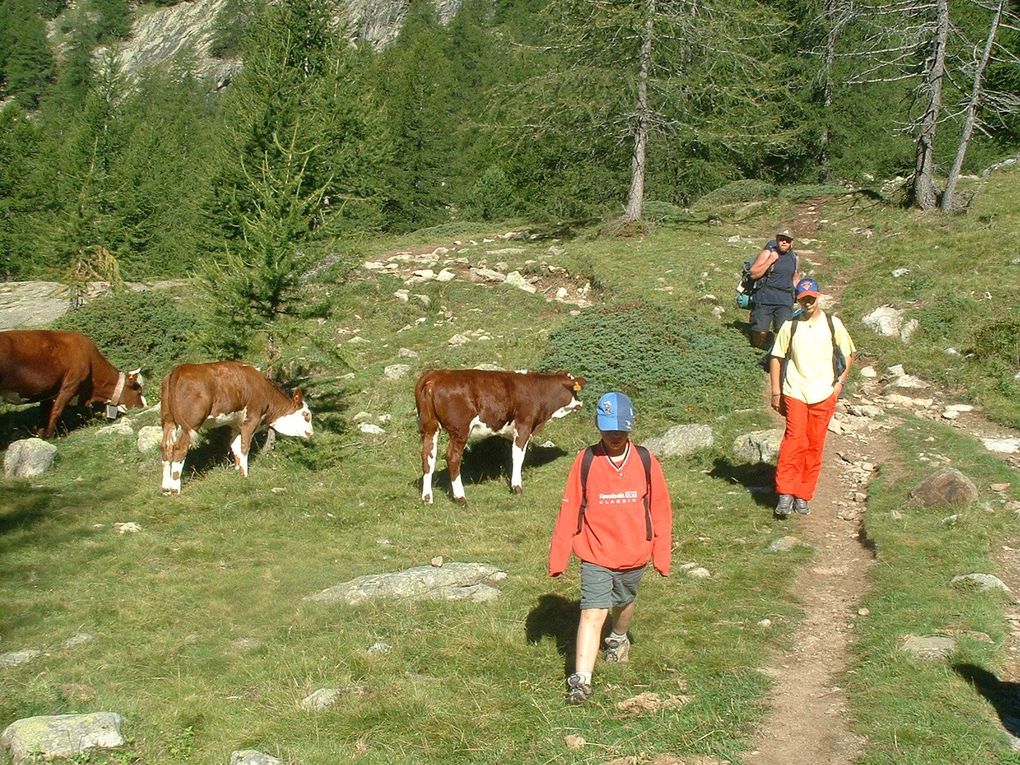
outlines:
[{"label": "reddish-brown calf with white legs, head level, nearest the boy", "polygon": [[460,477],[460,460],[468,439],[504,436],[513,440],[510,488],[520,494],[521,468],[531,437],[550,419],[563,417],[581,406],[577,393],[582,377],[566,372],[489,371],[436,369],[425,372],[414,387],[421,432],[421,499],[431,504],[440,430],[449,434],[447,468],[454,499],[466,505]]}]

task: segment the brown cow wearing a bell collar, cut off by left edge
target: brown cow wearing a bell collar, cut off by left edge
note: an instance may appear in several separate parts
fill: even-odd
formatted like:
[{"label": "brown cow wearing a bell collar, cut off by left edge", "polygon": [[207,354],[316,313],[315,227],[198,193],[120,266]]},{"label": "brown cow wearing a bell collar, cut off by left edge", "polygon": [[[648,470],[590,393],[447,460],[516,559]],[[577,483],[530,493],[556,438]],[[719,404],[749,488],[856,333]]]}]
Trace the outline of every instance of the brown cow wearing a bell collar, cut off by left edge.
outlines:
[{"label": "brown cow wearing a bell collar, cut off by left edge", "polygon": [[40,402],[39,434],[53,437],[64,407],[103,403],[123,413],[144,407],[141,370],[120,372],[81,333],[53,329],[0,332],[0,399]]}]

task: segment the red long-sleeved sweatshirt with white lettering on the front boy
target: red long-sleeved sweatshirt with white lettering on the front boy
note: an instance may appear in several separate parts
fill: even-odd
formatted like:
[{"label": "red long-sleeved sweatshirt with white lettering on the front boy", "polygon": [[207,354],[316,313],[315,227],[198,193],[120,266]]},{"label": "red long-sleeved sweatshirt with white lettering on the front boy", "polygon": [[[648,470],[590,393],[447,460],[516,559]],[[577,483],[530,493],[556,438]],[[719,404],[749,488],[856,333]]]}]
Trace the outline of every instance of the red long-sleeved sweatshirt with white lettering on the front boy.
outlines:
[{"label": "red long-sleeved sweatshirt with white lettering on the front boy", "polygon": [[605,454],[597,453],[592,460],[588,474],[588,507],[580,533],[577,533],[583,456],[581,450],[567,476],[549,548],[550,575],[556,576],[566,570],[572,549],[582,561],[605,568],[638,568],[651,560],[659,573],[668,576],[673,511],[659,461],[652,456],[652,540],[648,541],[645,465],[632,444],[627,444],[626,459],[620,467],[613,465]]}]

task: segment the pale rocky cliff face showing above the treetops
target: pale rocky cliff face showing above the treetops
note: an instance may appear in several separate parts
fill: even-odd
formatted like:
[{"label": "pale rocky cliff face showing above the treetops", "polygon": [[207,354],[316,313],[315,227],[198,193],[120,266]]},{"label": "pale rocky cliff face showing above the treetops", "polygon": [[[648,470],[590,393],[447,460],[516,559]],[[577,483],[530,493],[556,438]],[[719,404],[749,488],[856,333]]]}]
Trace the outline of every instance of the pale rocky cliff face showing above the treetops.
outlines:
[{"label": "pale rocky cliff face showing above the treetops", "polygon": [[[374,48],[393,42],[400,33],[409,0],[336,0],[338,34]],[[462,0],[434,0],[447,23]],[[209,55],[216,31],[216,15],[226,0],[191,0],[139,16],[130,40],[119,44],[116,58],[129,76],[146,66],[163,63],[184,51],[194,55],[195,73],[221,88],[241,61]]]}]

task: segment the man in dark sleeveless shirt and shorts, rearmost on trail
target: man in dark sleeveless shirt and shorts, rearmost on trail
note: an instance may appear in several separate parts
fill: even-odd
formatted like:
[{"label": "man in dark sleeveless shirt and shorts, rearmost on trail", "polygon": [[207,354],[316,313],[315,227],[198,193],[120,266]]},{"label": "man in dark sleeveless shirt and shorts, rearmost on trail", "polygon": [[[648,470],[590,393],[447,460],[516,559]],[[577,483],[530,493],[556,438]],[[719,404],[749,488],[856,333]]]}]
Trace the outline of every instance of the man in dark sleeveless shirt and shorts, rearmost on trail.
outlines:
[{"label": "man in dark sleeveless shirt and shorts, rearmost on trail", "polygon": [[794,252],[794,235],[779,232],[751,264],[752,278],[763,279],[751,309],[751,342],[765,348],[769,329],[778,332],[794,313],[794,287],[800,279],[800,263]]}]

